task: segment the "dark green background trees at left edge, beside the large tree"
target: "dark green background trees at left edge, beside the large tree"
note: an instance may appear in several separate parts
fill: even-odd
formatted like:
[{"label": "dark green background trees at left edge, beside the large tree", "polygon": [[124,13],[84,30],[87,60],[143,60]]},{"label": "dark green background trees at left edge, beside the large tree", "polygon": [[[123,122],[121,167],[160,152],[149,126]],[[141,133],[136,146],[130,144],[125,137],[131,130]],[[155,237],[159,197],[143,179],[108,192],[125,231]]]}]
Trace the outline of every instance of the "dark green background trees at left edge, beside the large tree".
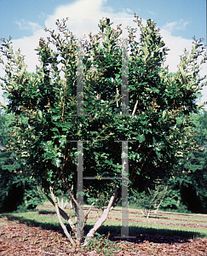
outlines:
[{"label": "dark green background trees at left edge, beside the large tree", "polygon": [[31,210],[42,200],[34,178],[22,176],[22,166],[15,152],[10,148],[5,150],[13,140],[10,136],[12,122],[14,114],[0,114],[0,212]]}]

